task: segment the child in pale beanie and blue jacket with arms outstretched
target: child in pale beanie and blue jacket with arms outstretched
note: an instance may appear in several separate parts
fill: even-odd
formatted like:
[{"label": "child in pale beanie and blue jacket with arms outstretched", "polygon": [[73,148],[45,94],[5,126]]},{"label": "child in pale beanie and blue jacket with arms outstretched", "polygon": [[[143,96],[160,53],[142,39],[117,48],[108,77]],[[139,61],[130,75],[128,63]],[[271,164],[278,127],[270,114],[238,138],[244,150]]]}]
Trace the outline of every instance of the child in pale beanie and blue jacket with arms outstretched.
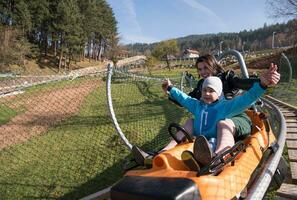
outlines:
[{"label": "child in pale beanie and blue jacket with arms outstretched", "polygon": [[[168,79],[164,81],[162,88],[171,98],[178,101],[183,107],[193,113],[195,118],[191,122],[193,128],[188,128],[191,130],[191,134],[196,136],[194,157],[200,164],[206,165],[213,157],[212,149],[215,149],[215,147],[211,149],[208,140],[216,141],[218,139],[217,144],[223,150],[231,148],[233,145],[230,146],[232,143],[230,141],[234,141],[232,133],[226,134],[224,132],[226,136],[224,139],[222,137],[217,138],[217,122],[243,112],[265,92],[267,86],[275,85],[279,80],[280,74],[277,72],[277,66],[272,64],[268,71],[260,76],[260,83],[256,82],[249,91],[231,100],[224,99],[222,95],[222,82],[218,77],[213,76],[204,80],[200,100],[191,98],[177,88],[174,88]],[[230,130],[225,131],[230,132]],[[177,137],[180,138],[182,135],[177,135]],[[175,144],[174,140],[172,140],[164,147],[164,150],[172,148]],[[136,162],[140,165],[143,165],[146,158],[152,157],[152,155],[147,154],[137,146],[133,146],[132,153]]]}]

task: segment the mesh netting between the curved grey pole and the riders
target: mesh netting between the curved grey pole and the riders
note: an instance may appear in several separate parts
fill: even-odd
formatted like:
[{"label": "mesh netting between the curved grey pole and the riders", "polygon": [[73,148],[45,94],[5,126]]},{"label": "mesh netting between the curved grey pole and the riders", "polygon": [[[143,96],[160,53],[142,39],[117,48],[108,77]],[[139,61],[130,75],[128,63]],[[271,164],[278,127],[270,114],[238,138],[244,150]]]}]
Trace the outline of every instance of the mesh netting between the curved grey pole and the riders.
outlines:
[{"label": "mesh netting between the curved grey pole and the riders", "polygon": [[[173,80],[179,86],[179,79]],[[150,79],[115,71],[112,78],[111,96],[120,128],[131,144],[147,151],[164,147],[171,139],[167,131],[169,124],[183,124],[189,117],[185,109],[168,100],[161,84],[160,76]]]}]

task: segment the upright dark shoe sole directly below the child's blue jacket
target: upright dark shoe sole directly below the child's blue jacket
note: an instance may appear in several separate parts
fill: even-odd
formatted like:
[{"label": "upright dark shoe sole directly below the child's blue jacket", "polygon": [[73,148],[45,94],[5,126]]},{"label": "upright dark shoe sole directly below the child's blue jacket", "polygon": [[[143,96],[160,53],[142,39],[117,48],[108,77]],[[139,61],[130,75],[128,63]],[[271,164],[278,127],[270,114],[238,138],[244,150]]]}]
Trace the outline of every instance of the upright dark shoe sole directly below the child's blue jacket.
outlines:
[{"label": "upright dark shoe sole directly below the child's blue jacket", "polygon": [[201,163],[203,167],[208,165],[214,156],[209,142],[203,135],[196,137],[193,151],[195,159]]}]

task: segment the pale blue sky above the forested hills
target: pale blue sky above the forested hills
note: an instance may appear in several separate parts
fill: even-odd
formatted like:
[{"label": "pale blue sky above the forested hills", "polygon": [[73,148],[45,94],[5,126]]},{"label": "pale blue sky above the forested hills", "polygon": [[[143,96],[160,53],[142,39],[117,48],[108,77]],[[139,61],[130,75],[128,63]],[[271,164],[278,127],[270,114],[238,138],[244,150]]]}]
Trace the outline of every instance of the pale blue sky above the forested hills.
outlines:
[{"label": "pale blue sky above the forested hills", "polygon": [[284,19],[269,18],[265,0],[107,0],[121,43],[152,43],[187,35],[239,32]]}]

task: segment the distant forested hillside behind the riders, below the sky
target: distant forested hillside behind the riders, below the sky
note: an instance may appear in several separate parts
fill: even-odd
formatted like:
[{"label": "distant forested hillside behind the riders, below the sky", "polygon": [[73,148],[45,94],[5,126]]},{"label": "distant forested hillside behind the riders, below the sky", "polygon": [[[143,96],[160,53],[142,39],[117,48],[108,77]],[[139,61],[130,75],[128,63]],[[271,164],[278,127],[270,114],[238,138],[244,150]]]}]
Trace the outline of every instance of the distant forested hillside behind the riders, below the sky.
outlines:
[{"label": "distant forested hillside behind the riders, below the sky", "polygon": [[[175,38],[180,51],[195,49],[200,52],[214,52],[221,48],[237,49],[239,51],[259,51],[272,48],[274,35],[274,47],[284,47],[296,44],[297,20],[289,20],[287,23],[273,25],[264,24],[262,28],[255,30],[243,30],[239,33],[217,33],[189,35]],[[134,52],[149,54],[158,43],[135,43],[126,45],[126,48]]]}]

